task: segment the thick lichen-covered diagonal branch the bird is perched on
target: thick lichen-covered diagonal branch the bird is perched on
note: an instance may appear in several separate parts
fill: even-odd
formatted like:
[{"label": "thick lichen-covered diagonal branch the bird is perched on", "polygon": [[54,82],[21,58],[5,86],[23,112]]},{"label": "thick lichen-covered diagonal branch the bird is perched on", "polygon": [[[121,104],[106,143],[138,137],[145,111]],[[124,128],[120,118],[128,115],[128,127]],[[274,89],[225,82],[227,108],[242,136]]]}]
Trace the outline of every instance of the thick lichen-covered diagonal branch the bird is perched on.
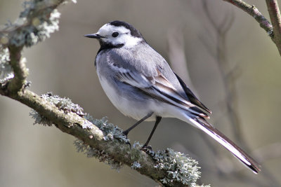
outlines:
[{"label": "thick lichen-covered diagonal branch the bird is perched on", "polygon": [[[77,137],[82,141],[81,144],[89,146],[88,151],[91,153],[87,154],[91,154],[101,161],[107,160],[115,165],[116,163],[117,165],[128,165],[164,186],[195,186],[195,181],[200,174],[197,172],[199,167],[195,160],[187,158],[182,153],[174,152],[169,148],[157,151],[157,153],[153,151],[145,153],[140,150],[141,144],[134,144],[131,148],[124,141],[122,130],[118,131],[118,128],[112,124],[96,120],[96,123],[103,123],[103,125],[109,126],[107,128],[112,129],[110,132],[100,130],[98,124],[87,120],[81,110],[72,111],[69,106],[61,109],[60,106],[65,105],[62,101],[52,104],[46,99],[46,95],[40,97],[26,89],[22,89],[17,94],[10,94],[1,89],[0,94],[11,97],[37,111],[40,115],[37,116],[37,118],[39,117],[36,119],[37,123],[43,123],[42,118],[44,118],[45,122],[53,123],[61,131]],[[51,95],[47,97],[51,97]],[[58,97],[54,100],[58,100]],[[111,135],[112,137],[110,137]],[[78,145],[77,148],[81,149],[81,145]]]}]

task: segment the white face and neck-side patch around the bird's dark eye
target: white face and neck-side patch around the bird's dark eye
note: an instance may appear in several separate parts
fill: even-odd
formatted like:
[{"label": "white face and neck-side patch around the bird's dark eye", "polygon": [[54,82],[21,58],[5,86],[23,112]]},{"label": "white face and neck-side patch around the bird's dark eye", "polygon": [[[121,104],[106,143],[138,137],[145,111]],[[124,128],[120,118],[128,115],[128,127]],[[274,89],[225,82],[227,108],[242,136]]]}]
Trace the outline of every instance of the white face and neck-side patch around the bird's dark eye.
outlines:
[{"label": "white face and neck-side patch around the bird's dark eye", "polygon": [[[113,37],[112,33],[118,32],[119,35],[117,37]],[[100,36],[105,36],[102,40],[107,43],[112,43],[114,46],[118,44],[124,44],[125,48],[131,48],[136,46],[142,39],[131,36],[131,32],[126,27],[120,26],[116,27],[110,24],[105,24],[103,27],[100,27],[96,34],[100,34]]]}]

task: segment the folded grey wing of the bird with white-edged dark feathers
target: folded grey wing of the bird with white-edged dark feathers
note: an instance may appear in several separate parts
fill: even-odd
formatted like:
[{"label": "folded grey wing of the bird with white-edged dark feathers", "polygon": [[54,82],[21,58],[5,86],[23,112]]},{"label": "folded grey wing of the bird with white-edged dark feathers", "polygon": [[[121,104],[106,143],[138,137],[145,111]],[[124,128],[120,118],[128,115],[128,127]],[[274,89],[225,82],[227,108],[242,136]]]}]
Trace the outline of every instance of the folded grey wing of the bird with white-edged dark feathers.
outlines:
[{"label": "folded grey wing of the bird with white-edged dark feathers", "polygon": [[209,116],[195,104],[185,99],[158,69],[155,69],[157,72],[156,75],[145,76],[133,67],[125,68],[122,67],[121,64],[117,65],[115,63],[109,63],[109,66],[112,71],[115,72],[115,78],[118,81],[138,88],[145,94],[150,95],[150,97],[177,106],[196,116],[209,118]]}]

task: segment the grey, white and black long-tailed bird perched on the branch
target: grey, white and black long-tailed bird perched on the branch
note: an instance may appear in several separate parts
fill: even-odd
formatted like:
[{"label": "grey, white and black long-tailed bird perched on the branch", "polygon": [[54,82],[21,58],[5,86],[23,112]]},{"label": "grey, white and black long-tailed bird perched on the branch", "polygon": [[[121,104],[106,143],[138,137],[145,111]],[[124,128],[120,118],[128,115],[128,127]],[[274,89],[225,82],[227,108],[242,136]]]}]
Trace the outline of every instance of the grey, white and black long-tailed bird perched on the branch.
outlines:
[{"label": "grey, white and black long-tailed bird perched on the branch", "polygon": [[115,20],[84,36],[100,43],[95,66],[110,102],[125,116],[138,120],[123,134],[127,136],[144,120],[155,121],[145,148],[162,118],[178,118],[218,141],[255,174],[261,171],[258,162],[207,122],[211,111],[133,25]]}]

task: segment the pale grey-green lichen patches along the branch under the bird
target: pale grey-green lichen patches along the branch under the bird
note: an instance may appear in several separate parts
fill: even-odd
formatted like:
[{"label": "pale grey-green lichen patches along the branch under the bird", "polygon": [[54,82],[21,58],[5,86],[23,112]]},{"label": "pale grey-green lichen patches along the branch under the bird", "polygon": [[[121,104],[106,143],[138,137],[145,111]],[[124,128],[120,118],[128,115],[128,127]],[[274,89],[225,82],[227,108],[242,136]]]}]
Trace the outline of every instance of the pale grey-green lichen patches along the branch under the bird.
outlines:
[{"label": "pale grey-green lichen patches along the branch under the bird", "polygon": [[[102,118],[100,120],[94,119],[87,113],[84,113],[81,106],[78,104],[73,104],[68,98],[61,98],[58,95],[53,95],[48,92],[46,95],[41,95],[46,101],[51,102],[58,107],[58,109],[64,111],[65,113],[77,113],[79,116],[85,119],[89,123],[88,127],[91,129],[91,125],[96,125],[103,132],[103,139],[105,141],[122,141],[129,142],[129,139],[122,134],[123,130],[119,127],[108,123],[107,118]],[[44,118],[44,116],[39,115],[36,111],[32,110],[30,115],[35,119],[35,123],[40,123],[43,125],[51,125],[51,122]],[[89,158],[97,158],[101,162],[107,162],[113,169],[119,171],[122,167],[121,162],[113,160],[105,151],[97,150],[91,146],[84,144],[81,140],[75,140],[74,145],[78,152],[85,153]],[[131,148],[131,160],[134,162],[131,165],[132,169],[141,168],[141,155],[140,149],[142,144],[136,141]],[[152,151],[150,148],[146,148],[145,152],[148,153],[155,161],[155,168],[164,170],[166,172],[166,177],[161,179],[162,183],[167,186],[172,186],[174,182],[183,183],[183,185],[188,185],[190,187],[197,186],[196,181],[200,178],[200,172],[198,169],[198,163],[196,160],[192,160],[187,155],[176,152],[171,148],[166,148],[164,151]]]}]

